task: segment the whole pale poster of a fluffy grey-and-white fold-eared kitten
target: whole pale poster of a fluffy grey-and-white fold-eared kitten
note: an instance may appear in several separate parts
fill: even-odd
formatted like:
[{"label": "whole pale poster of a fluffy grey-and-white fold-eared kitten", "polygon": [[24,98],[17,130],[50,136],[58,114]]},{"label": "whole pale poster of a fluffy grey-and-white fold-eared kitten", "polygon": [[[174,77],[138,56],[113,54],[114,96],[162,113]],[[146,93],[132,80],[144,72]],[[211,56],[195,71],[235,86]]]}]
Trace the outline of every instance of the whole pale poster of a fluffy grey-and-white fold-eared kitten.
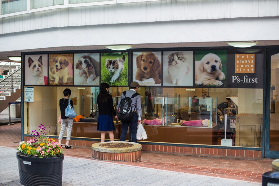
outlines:
[{"label": "whole pale poster of a fluffy grey-and-white fold-eared kitten", "polygon": [[193,86],[193,51],[163,52],[163,86]]}]

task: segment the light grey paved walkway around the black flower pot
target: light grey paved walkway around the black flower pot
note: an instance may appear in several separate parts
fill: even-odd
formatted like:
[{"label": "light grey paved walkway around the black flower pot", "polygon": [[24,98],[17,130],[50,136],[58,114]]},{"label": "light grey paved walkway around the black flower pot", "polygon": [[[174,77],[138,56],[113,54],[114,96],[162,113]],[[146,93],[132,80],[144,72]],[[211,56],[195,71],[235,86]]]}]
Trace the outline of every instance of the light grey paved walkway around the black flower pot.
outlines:
[{"label": "light grey paved walkway around the black flower pot", "polygon": [[[19,186],[14,148],[0,147],[0,185]],[[4,167],[4,168],[3,168]],[[256,183],[65,156],[63,186],[259,186]]]}]

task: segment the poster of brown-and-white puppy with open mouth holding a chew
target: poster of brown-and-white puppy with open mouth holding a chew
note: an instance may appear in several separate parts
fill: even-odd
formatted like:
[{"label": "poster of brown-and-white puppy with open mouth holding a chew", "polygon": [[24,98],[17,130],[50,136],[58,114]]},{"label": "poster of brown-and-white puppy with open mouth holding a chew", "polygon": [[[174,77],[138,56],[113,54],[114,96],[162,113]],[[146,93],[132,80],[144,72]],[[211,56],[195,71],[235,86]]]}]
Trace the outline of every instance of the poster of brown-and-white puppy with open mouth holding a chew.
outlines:
[{"label": "poster of brown-and-white puppy with open mouth holding a chew", "polygon": [[100,85],[100,53],[74,54],[74,85]]}]

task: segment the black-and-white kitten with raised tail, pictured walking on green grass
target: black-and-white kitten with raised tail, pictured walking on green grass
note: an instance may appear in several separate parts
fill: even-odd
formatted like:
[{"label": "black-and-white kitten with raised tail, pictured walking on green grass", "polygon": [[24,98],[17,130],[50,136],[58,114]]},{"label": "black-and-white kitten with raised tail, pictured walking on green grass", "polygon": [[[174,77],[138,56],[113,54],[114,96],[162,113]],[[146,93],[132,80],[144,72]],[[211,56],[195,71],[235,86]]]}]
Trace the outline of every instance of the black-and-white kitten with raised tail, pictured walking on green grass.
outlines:
[{"label": "black-and-white kitten with raised tail, pictured walking on green grass", "polygon": [[122,59],[116,58],[116,60],[106,59],[106,68],[108,70],[109,76],[111,77],[111,82],[114,82],[121,74],[125,62],[125,55]]}]

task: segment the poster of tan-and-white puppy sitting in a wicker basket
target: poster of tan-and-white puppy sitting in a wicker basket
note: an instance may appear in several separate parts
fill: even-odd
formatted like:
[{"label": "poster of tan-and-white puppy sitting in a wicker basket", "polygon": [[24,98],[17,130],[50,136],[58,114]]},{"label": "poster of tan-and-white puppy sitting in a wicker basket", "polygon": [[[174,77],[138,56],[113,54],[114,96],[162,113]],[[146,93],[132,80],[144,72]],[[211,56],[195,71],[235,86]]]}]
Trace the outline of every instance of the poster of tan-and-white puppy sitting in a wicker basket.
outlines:
[{"label": "poster of tan-and-white puppy sitting in a wicker basket", "polygon": [[48,65],[49,85],[73,85],[73,54],[49,54]]}]

